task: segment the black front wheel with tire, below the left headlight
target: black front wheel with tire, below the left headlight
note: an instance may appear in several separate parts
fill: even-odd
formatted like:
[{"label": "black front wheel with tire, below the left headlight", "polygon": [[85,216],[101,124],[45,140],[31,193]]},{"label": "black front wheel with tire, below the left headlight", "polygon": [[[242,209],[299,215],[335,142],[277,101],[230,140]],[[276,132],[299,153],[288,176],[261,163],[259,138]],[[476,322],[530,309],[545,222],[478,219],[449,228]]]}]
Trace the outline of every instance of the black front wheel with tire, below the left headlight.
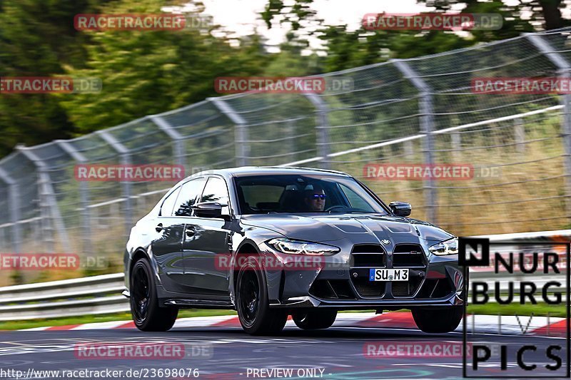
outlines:
[{"label": "black front wheel with tire, below the left headlight", "polygon": [[252,335],[273,335],[283,330],[287,312],[270,309],[268,287],[257,260],[248,260],[236,280],[236,309],[245,332]]}]

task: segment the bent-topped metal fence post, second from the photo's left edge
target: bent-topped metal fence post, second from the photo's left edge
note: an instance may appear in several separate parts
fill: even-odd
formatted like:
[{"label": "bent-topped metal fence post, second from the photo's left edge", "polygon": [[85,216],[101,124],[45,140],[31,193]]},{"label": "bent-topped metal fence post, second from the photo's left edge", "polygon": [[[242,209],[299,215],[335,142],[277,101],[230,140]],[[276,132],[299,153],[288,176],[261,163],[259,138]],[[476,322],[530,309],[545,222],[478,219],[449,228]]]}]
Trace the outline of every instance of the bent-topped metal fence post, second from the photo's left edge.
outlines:
[{"label": "bent-topped metal fence post, second from the photo's left edge", "polygon": [[[56,193],[54,192],[54,188],[51,186],[51,178],[49,176],[46,163],[44,163],[44,161],[41,160],[41,158],[39,158],[36,153],[31,150],[31,148],[26,148],[24,145],[16,145],[16,150],[22,153],[24,157],[26,157],[36,166],[39,174],[38,190],[41,203],[40,207],[42,209],[47,207],[47,210],[49,210],[49,215],[46,215],[46,218],[51,220],[50,222],[53,222],[53,224],[56,226],[59,240],[61,242],[61,247],[63,247],[66,252],[71,252],[66,225],[64,223],[64,219],[61,217],[61,213],[59,212]],[[48,250],[50,252],[54,252],[54,227],[50,225],[48,229],[51,230],[51,240],[47,240]]]}]

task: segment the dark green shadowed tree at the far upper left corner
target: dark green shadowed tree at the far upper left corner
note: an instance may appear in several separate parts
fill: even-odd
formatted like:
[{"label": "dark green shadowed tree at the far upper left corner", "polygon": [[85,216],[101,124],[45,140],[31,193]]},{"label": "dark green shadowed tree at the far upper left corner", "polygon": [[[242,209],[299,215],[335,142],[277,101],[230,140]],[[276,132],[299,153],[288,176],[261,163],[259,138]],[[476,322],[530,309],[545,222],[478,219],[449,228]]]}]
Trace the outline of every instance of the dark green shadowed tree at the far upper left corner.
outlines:
[{"label": "dark green shadowed tree at the far upper left corner", "polygon": [[[74,16],[94,1],[0,2],[0,76],[57,76],[81,66],[89,36],[74,29]],[[32,145],[71,135],[74,126],[49,94],[0,94],[0,155],[16,143]]]}]

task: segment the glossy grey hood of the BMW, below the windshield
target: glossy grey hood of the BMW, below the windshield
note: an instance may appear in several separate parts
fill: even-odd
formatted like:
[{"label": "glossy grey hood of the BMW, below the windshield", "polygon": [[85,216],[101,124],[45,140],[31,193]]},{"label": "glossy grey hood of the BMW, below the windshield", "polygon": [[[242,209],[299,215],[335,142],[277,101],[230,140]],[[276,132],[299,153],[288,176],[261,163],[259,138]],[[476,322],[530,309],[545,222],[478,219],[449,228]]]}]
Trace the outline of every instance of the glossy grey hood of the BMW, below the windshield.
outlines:
[{"label": "glossy grey hood of the BMW, below the windshield", "polygon": [[453,237],[440,227],[408,217],[378,214],[245,215],[243,225],[266,228],[290,239],[328,242],[344,238],[360,242],[440,242]]}]

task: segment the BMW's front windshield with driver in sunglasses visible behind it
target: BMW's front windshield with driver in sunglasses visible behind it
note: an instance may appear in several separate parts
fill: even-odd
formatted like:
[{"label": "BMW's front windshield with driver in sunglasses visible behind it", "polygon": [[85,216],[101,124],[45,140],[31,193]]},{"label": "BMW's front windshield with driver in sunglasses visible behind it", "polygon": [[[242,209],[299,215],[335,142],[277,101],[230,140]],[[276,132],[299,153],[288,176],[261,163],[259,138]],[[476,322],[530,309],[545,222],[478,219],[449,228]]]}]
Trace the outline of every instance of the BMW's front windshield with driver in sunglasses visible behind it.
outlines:
[{"label": "BMW's front windshield with driver in sunglasses visible behind it", "polygon": [[385,209],[353,178],[337,175],[255,175],[235,179],[241,214],[375,212]]}]

